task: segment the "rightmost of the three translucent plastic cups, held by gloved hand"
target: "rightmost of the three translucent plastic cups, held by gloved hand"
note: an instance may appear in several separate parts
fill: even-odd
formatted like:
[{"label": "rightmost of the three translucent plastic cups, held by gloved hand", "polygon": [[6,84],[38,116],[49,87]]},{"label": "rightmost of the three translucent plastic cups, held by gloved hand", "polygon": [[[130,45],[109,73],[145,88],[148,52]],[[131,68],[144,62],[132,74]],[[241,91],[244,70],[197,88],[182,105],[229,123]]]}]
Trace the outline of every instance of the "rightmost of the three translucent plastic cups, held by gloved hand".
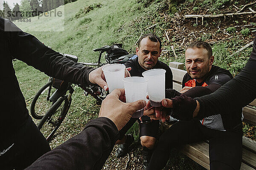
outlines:
[{"label": "rightmost of the three translucent plastic cups, held by gloved hand", "polygon": [[152,69],[142,73],[148,79],[148,96],[154,107],[162,106],[161,101],[165,98],[165,73],[164,69]]}]

